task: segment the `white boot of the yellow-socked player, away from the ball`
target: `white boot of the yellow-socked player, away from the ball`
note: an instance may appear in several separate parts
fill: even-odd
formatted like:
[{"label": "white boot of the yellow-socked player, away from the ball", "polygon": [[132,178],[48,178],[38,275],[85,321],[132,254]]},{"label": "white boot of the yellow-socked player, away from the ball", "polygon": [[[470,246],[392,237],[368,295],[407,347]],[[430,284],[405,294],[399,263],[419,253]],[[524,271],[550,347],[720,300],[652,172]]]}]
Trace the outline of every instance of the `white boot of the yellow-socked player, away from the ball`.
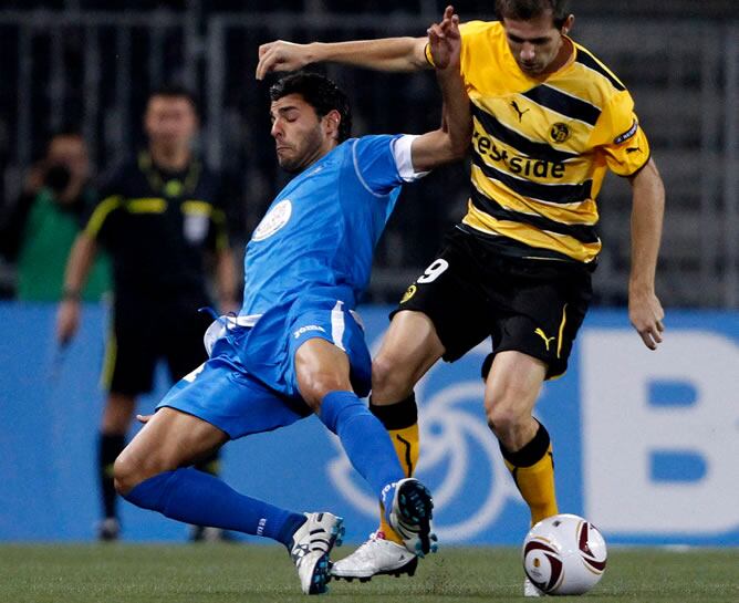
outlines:
[{"label": "white boot of the yellow-socked player, away from the ball", "polygon": [[403,544],[386,540],[378,530],[370,534],[370,540],[351,555],[336,561],[331,573],[337,580],[351,582],[358,578],[360,582],[367,582],[374,575],[414,575],[417,566],[418,558],[415,554]]}]

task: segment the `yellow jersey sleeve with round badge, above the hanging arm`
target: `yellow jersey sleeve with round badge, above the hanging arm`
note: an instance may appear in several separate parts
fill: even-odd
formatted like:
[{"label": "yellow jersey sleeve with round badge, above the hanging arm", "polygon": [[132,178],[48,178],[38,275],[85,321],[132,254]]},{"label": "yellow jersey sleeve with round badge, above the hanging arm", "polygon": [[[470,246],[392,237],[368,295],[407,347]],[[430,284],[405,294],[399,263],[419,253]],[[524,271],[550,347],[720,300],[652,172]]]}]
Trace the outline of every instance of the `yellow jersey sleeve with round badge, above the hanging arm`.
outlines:
[{"label": "yellow jersey sleeve with round badge, above the hanging arm", "polygon": [[628,92],[618,92],[611,98],[593,129],[592,142],[618,176],[632,176],[649,160],[649,142]]}]

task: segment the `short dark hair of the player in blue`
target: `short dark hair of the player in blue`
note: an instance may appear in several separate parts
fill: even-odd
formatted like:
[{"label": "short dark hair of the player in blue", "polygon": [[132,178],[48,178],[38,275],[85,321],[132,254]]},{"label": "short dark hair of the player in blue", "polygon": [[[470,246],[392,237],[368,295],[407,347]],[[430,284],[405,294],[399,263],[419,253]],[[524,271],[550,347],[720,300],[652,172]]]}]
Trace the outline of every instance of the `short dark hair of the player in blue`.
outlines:
[{"label": "short dark hair of the player in blue", "polygon": [[348,97],[329,77],[320,73],[296,72],[285,75],[270,87],[272,102],[288,94],[300,94],[313,107],[319,118],[336,110],[341,115],[337,142],[343,143],[351,136],[352,107]]}]

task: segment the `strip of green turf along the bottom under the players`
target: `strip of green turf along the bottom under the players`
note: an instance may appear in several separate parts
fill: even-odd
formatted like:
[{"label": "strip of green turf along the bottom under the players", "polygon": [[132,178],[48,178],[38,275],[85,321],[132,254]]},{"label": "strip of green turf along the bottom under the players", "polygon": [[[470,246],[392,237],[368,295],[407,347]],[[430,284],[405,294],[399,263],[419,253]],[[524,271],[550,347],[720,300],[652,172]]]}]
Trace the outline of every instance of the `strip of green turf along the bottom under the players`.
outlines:
[{"label": "strip of green turf along the bottom under the players", "polygon": [[[339,549],[335,557],[350,551]],[[323,601],[522,600],[518,554],[513,549],[447,548],[421,562],[413,579],[334,581]],[[278,547],[0,545],[0,602],[117,601],[289,603],[305,597],[287,553]],[[613,550],[605,576],[586,601],[737,603],[739,550]]]}]

